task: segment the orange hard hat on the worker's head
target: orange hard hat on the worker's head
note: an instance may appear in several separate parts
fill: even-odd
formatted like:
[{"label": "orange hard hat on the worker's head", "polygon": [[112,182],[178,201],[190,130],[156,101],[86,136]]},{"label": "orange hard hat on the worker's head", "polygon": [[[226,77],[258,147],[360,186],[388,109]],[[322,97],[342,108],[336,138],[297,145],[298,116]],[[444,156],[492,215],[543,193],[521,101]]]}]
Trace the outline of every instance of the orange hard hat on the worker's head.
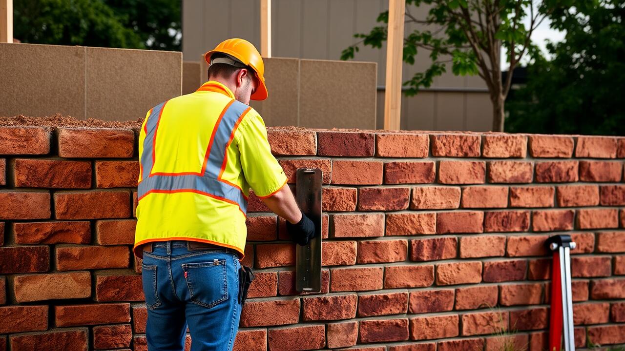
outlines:
[{"label": "orange hard hat on the worker's head", "polygon": [[258,77],[258,87],[250,99],[252,100],[264,100],[267,99],[267,86],[265,85],[265,65],[262,63],[261,54],[256,50],[254,44],[245,39],[232,38],[226,39],[209,52],[204,54],[207,64],[211,64],[211,56],[215,52],[221,52],[227,54],[241,61],[246,66],[252,67]]}]

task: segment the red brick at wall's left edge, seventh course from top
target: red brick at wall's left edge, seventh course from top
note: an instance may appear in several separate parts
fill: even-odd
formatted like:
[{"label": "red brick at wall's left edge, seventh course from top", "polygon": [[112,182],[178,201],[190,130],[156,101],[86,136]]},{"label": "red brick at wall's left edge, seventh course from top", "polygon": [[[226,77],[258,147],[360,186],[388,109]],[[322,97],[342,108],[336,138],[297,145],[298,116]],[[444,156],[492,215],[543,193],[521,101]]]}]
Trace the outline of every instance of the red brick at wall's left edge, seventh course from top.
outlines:
[{"label": "red brick at wall's left edge, seventh course from top", "polygon": [[0,334],[46,330],[47,313],[47,305],[0,307]]}]

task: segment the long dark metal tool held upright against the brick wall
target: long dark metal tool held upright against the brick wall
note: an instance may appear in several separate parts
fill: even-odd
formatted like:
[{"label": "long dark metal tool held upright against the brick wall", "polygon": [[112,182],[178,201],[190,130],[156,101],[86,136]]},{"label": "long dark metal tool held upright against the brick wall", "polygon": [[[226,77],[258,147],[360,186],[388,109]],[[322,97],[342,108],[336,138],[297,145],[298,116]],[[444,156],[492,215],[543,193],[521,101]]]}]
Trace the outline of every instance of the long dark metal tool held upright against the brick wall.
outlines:
[{"label": "long dark metal tool held upright against the brick wall", "polygon": [[314,223],[316,236],[307,245],[296,245],[295,289],[321,292],[321,182],[318,168],[300,168],[296,173],[296,200]]}]

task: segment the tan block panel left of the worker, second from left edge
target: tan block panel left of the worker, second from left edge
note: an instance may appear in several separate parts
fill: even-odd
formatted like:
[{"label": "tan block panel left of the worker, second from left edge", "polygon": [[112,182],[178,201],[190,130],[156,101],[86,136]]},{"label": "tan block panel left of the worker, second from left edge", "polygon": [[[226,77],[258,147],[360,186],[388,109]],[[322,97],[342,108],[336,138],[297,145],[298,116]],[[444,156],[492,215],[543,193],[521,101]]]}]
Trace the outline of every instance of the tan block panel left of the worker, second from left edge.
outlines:
[{"label": "tan block panel left of the worker, second from left edge", "polygon": [[138,119],[182,92],[182,52],[102,47],[86,51],[86,117]]}]

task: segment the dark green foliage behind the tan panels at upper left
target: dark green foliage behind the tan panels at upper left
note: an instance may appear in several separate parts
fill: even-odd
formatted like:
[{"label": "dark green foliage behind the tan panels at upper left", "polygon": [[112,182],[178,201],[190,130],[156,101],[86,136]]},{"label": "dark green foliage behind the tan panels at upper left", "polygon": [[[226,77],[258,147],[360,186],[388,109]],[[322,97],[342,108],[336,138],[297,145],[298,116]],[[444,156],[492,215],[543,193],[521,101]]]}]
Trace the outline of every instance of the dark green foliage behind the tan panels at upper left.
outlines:
[{"label": "dark green foliage behind the tan panels at upper left", "polygon": [[19,0],[14,37],[35,44],[180,50],[180,0]]}]

